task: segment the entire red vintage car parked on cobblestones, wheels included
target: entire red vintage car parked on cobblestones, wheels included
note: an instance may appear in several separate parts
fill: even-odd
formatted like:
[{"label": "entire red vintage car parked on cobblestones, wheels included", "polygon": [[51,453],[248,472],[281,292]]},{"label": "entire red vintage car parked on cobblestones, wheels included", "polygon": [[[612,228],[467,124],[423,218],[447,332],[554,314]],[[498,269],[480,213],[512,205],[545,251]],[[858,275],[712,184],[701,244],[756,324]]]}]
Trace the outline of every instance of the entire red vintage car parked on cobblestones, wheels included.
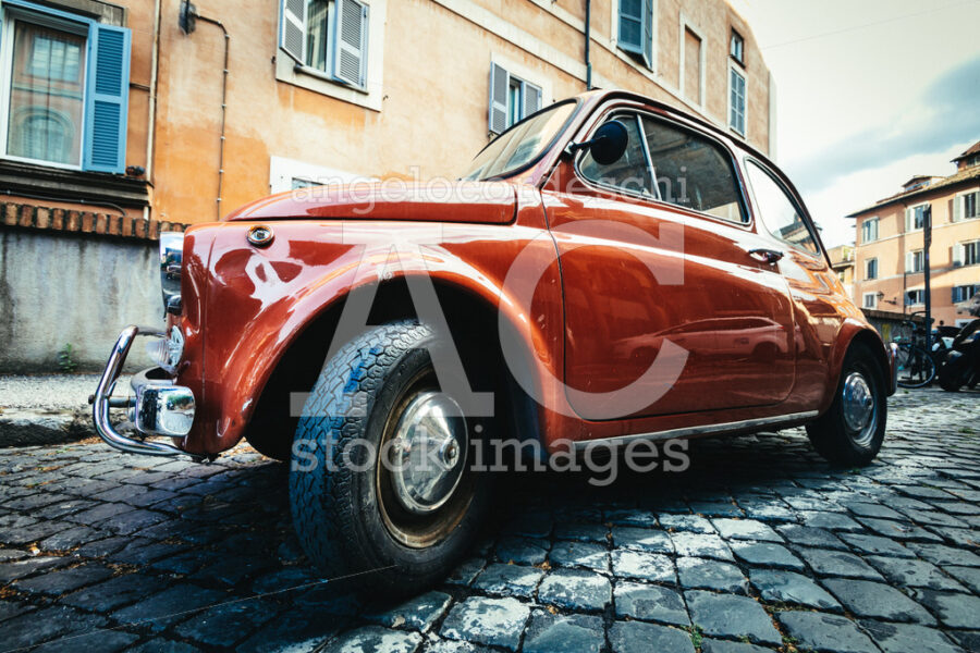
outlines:
[{"label": "entire red vintage car parked on cobblestones, wheels included", "polygon": [[[161,266],[166,329],[121,334],[98,432],[291,460],[313,562],[394,591],[465,552],[502,442],[540,460],[806,424],[861,465],[895,390],[789,181],[628,93],[528,116],[461,180],[303,189],[167,234]],[[159,367],[113,396],[137,335]]]}]

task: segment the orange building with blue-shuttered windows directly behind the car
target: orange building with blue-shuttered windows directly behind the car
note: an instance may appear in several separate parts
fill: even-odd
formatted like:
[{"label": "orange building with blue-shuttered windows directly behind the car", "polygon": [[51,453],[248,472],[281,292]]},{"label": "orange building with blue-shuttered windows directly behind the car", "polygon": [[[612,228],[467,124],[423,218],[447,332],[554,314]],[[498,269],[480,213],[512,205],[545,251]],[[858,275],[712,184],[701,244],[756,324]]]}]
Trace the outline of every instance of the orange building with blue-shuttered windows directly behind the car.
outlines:
[{"label": "orange building with blue-shuttered windows directly behind the car", "polygon": [[66,343],[95,367],[158,318],[161,230],[327,180],[455,178],[589,86],[774,151],[725,0],[0,0],[0,371]]}]

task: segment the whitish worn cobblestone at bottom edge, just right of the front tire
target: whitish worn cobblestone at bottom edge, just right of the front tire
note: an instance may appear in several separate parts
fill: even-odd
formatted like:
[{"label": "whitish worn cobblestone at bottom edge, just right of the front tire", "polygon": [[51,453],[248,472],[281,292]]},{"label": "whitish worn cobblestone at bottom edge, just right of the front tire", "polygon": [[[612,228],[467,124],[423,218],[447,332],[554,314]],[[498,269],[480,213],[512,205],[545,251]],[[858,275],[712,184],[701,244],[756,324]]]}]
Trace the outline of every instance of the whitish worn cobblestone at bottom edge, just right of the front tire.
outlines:
[{"label": "whitish worn cobblestone at bottom edge, just right of the front tire", "polygon": [[530,608],[516,599],[470,596],[454,605],[440,634],[516,651]]}]

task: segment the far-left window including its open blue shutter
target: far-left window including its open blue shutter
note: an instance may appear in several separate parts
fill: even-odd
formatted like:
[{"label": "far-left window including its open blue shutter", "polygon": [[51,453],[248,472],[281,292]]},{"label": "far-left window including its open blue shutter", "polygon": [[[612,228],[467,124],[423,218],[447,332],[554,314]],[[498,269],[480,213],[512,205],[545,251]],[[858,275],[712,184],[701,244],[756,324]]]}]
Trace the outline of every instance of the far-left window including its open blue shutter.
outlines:
[{"label": "far-left window including its open blue shutter", "polygon": [[123,172],[130,30],[26,2],[2,19],[0,153]]}]

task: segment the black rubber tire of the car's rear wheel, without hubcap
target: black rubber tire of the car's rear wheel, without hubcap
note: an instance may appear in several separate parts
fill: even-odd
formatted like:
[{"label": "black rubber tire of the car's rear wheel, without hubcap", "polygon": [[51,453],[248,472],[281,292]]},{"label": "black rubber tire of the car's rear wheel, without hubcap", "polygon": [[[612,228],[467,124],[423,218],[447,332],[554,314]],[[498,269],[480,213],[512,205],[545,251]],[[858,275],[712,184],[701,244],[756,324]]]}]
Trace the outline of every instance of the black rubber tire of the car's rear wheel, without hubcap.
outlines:
[{"label": "black rubber tire of the car's rear wheel, without hubcap", "polygon": [[[863,429],[853,428],[845,417],[844,387],[853,374],[863,380],[872,401],[872,421]],[[849,467],[863,466],[873,460],[881,449],[886,422],[884,373],[874,354],[865,345],[855,343],[844,358],[833,403],[823,415],[807,424],[807,435],[813,448],[829,461]]]}]

